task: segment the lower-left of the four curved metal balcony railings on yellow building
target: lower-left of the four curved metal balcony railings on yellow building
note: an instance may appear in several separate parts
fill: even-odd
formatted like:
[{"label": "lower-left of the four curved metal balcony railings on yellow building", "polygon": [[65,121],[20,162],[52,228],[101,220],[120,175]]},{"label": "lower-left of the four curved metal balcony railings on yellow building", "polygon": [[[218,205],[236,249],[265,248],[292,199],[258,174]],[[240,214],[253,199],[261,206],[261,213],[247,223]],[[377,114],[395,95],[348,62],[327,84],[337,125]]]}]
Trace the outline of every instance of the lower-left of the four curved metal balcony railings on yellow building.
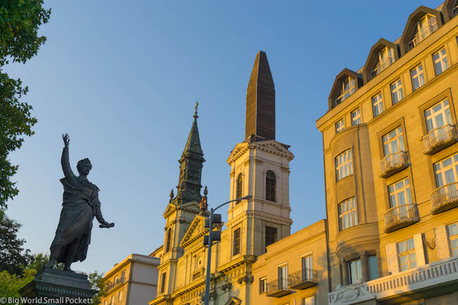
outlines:
[{"label": "lower-left of the four curved metal balcony railings on yellow building", "polygon": [[385,213],[385,233],[407,227],[420,221],[416,204],[404,204],[390,208]]}]

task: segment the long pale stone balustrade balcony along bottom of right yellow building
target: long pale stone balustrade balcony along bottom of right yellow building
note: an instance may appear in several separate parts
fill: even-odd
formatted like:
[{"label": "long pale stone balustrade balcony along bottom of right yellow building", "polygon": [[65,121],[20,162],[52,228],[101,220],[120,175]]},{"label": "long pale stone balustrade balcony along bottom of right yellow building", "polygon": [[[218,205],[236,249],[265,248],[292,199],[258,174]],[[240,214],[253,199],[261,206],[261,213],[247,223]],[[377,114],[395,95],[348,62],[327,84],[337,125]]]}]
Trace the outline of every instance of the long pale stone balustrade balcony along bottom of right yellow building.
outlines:
[{"label": "long pale stone balustrade balcony along bottom of right yellow building", "polygon": [[328,293],[328,304],[404,304],[458,290],[458,257],[428,263],[427,265],[406,270],[395,275],[369,282],[338,287]]}]

